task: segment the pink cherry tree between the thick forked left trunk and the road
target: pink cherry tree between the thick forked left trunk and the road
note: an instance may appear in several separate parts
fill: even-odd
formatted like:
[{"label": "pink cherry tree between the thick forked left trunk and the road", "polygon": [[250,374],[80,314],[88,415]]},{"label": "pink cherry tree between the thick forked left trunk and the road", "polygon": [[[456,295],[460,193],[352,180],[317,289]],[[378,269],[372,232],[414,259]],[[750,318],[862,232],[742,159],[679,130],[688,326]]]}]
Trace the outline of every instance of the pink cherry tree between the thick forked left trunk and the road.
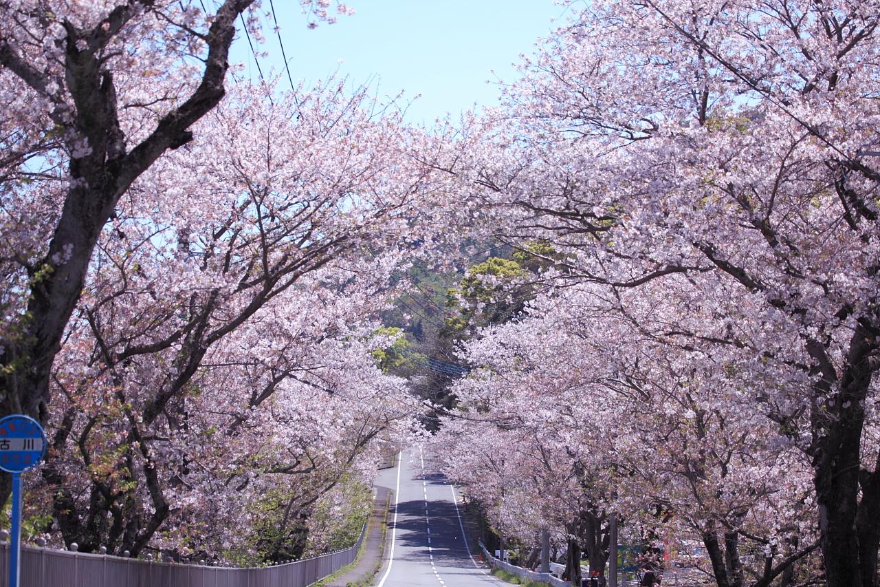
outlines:
[{"label": "pink cherry tree between the thick forked left trunk and the road", "polygon": [[431,230],[413,221],[433,197],[415,131],[339,80],[274,104],[257,92],[203,117],[99,240],[43,468],[84,551],[222,545],[212,532],[253,527],[246,504],[272,487],[293,524],[414,412],[371,353],[393,342],[372,335],[392,273]]}]

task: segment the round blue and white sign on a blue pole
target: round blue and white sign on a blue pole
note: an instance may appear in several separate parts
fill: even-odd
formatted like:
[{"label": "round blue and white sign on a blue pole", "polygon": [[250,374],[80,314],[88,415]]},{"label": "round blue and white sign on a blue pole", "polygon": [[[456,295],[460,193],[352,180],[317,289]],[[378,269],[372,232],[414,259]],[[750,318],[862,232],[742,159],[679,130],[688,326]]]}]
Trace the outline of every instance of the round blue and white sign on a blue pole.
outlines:
[{"label": "round blue and white sign on a blue pole", "polygon": [[12,528],[9,544],[9,587],[18,587],[21,555],[21,473],[40,464],[46,433],[37,420],[22,414],[0,420],[0,469],[12,474]]}]

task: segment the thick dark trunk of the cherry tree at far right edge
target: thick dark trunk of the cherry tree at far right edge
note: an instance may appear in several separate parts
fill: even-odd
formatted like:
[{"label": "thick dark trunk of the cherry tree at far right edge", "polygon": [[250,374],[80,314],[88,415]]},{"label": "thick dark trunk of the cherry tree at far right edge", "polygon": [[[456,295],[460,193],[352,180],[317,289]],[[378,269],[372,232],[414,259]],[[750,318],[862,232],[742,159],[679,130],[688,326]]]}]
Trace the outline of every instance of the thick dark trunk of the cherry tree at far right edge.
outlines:
[{"label": "thick dark trunk of the cherry tree at far right edge", "polygon": [[[746,271],[715,257],[714,249],[702,247],[707,258],[719,269],[752,291],[765,289]],[[769,297],[768,302],[798,320],[807,308]],[[851,308],[841,308],[847,317]],[[876,587],[876,530],[880,513],[880,487],[874,471],[862,467],[864,404],[869,398],[871,379],[880,368],[880,316],[876,310],[858,316],[850,338],[846,360],[834,365],[827,346],[804,335],[807,353],[813,361],[810,375],[815,378],[810,394],[812,442],[807,454],[812,458],[813,480],[819,513],[819,546],[825,563],[829,587]],[[880,454],[877,455],[880,463]],[[860,487],[865,489],[859,498]],[[874,520],[869,523],[868,520]],[[715,563],[713,562],[713,567]],[[719,583],[721,584],[721,583]]]}]

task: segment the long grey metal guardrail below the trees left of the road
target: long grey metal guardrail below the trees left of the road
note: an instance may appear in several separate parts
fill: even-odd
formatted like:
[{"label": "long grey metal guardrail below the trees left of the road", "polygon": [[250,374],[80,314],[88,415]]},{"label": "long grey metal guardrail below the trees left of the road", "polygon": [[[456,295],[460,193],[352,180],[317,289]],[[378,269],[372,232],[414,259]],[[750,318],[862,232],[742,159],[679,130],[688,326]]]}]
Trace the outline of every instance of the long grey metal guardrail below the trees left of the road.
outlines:
[{"label": "long grey metal guardrail below the trees left of the road", "polygon": [[[355,561],[355,546],[272,567],[209,567],[21,547],[21,587],[306,587]],[[9,544],[0,544],[0,582],[9,574]]]}]

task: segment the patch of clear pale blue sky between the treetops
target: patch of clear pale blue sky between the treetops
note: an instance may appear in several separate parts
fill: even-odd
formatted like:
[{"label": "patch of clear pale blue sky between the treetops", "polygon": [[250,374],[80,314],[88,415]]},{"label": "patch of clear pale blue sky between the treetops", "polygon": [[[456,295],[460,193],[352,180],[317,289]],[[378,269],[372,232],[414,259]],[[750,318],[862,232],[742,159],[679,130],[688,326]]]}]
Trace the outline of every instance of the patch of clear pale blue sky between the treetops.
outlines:
[{"label": "patch of clear pale blue sky between the treetops", "polygon": [[[310,30],[297,2],[274,2],[294,82],[313,82],[337,68],[352,84],[372,78],[382,95],[403,91],[409,101],[421,94],[407,115],[428,124],[447,112],[457,117],[474,105],[495,104],[498,87],[487,80],[517,78],[519,55],[531,54],[535,41],[565,18],[553,0],[349,0],[356,14]],[[283,60],[271,18],[264,35],[258,51],[268,56],[260,66],[278,74]],[[247,40],[239,36],[233,61],[247,63],[256,79]],[[281,85],[290,85],[286,74]]]}]

